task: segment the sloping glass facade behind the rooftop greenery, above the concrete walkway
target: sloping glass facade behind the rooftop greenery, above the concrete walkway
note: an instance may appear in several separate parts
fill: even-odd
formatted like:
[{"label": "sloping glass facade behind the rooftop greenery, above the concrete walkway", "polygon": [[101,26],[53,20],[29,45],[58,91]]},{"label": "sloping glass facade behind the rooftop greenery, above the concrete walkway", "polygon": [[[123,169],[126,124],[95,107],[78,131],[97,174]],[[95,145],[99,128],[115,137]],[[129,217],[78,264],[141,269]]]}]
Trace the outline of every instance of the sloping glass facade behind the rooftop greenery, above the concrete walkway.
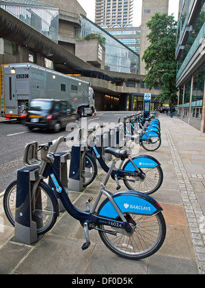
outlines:
[{"label": "sloping glass facade behind the rooftop greenery, above the concrete walkway", "polygon": [[100,34],[106,38],[105,69],[122,73],[139,73],[139,55],[81,15],[81,28],[76,28],[75,36],[84,38],[90,33]]}]

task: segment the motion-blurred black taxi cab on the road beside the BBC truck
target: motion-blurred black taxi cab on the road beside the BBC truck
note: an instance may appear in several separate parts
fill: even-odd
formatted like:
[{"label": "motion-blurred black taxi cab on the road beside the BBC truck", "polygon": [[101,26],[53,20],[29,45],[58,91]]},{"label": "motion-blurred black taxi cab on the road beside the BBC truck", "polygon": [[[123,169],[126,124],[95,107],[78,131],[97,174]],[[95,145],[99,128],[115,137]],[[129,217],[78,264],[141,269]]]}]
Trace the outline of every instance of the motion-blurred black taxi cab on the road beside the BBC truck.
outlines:
[{"label": "motion-blurred black taxi cab on the road beside the BBC truck", "polygon": [[49,129],[59,132],[70,122],[77,121],[77,113],[74,112],[71,104],[65,100],[55,99],[33,99],[27,111],[23,124],[29,130],[33,128]]}]

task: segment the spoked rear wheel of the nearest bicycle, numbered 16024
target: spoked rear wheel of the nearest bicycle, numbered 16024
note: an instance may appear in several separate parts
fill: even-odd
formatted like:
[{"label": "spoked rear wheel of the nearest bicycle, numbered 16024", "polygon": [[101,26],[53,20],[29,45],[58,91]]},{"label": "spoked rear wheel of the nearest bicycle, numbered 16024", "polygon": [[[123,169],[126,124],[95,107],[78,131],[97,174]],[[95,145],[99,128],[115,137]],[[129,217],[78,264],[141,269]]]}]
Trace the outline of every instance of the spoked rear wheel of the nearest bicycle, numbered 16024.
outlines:
[{"label": "spoked rear wheel of the nearest bicycle, numbered 16024", "polygon": [[[133,228],[132,235],[128,235],[122,228],[113,228],[111,235],[99,230],[100,238],[103,243],[115,254],[126,259],[144,259],[161,248],[166,235],[166,224],[161,212],[155,215],[125,215],[127,221]],[[110,227],[99,225],[99,228],[110,230]]]}]

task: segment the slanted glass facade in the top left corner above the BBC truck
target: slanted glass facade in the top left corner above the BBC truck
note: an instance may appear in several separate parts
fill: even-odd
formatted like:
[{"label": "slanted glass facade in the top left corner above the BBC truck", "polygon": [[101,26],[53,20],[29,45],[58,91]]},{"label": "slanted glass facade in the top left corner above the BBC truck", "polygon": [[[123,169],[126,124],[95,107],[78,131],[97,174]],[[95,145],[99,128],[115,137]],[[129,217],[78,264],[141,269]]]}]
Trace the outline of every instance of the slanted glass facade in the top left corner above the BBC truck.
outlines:
[{"label": "slanted glass facade in the top left corner above the BBC truck", "polygon": [[3,0],[0,7],[55,43],[58,42],[59,8],[33,0]]}]

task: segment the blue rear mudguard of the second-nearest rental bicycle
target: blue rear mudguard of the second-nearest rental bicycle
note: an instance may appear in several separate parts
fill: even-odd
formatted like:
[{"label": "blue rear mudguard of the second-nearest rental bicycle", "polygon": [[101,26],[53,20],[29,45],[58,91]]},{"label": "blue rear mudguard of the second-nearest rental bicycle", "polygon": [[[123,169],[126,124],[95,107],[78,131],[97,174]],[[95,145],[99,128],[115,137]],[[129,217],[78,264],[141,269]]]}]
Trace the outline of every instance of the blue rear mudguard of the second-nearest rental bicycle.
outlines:
[{"label": "blue rear mudguard of the second-nearest rental bicycle", "polygon": [[[161,165],[158,160],[150,155],[135,156],[132,158],[132,160],[137,168],[156,168]],[[128,160],[122,169],[129,172],[136,171],[136,168],[133,163],[131,163],[131,160]]]}]

